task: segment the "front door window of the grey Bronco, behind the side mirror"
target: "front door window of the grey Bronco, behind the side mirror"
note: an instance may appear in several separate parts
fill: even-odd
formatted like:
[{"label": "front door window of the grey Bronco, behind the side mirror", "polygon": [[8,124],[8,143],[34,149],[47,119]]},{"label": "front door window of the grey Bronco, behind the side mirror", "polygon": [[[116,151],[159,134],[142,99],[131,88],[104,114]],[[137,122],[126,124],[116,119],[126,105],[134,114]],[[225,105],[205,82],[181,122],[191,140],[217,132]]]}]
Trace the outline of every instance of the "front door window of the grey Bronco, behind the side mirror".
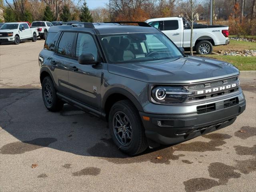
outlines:
[{"label": "front door window of the grey Bronco, behind the side mirror", "polygon": [[76,58],[83,53],[91,53],[95,60],[98,59],[98,49],[92,36],[86,33],[78,33],[76,42]]}]

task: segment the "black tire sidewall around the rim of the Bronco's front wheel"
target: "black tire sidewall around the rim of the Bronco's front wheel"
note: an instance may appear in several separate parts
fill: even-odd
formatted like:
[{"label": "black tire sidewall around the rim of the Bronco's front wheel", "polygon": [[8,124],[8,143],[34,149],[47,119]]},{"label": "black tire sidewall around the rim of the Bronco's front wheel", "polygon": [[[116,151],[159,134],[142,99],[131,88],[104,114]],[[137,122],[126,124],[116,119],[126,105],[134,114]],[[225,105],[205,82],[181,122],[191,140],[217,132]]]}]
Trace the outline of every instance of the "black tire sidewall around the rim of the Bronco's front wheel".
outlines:
[{"label": "black tire sidewall around the rim of the Bronco's front wheel", "polygon": [[[113,118],[116,112],[123,112],[126,114],[126,116],[130,120],[130,124],[132,125],[132,141],[128,146],[122,146],[114,133],[113,130]],[[129,106],[127,106],[124,103],[117,102],[116,104],[113,105],[113,107],[110,110],[109,118],[108,118],[108,125],[110,128],[110,135],[114,141],[114,143],[118,146],[118,148],[126,153],[135,153],[134,149],[138,148],[139,143],[140,143],[140,136],[142,135],[142,123],[138,122],[138,119],[135,116],[136,114],[133,114],[132,110],[130,109]]]}]

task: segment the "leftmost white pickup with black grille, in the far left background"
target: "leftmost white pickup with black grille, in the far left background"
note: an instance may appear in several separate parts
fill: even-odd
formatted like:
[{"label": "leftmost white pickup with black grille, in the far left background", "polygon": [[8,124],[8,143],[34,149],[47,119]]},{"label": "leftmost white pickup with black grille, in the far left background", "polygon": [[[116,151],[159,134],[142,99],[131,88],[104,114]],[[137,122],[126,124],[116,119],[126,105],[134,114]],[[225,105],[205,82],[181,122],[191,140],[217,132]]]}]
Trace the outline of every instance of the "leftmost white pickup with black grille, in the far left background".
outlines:
[{"label": "leftmost white pickup with black grille, in the far left background", "polygon": [[0,28],[0,43],[14,42],[17,45],[24,40],[35,42],[37,37],[38,31],[30,28],[26,22],[6,23]]}]

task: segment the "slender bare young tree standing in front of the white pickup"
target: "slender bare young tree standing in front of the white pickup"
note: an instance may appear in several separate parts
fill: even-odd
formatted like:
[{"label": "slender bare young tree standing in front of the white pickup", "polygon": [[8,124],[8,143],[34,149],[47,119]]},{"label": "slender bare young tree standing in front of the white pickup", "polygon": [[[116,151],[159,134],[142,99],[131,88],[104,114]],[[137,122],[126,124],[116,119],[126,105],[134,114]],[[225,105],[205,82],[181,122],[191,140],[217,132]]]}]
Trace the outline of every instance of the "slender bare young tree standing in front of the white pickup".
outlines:
[{"label": "slender bare young tree standing in front of the white pickup", "polygon": [[190,25],[191,28],[191,33],[190,33],[190,54],[193,55],[193,27],[194,27],[194,21],[196,20],[196,11],[198,8],[198,5],[200,3],[198,0],[187,0],[185,4],[185,10],[186,10],[186,18],[188,20],[188,24]]}]

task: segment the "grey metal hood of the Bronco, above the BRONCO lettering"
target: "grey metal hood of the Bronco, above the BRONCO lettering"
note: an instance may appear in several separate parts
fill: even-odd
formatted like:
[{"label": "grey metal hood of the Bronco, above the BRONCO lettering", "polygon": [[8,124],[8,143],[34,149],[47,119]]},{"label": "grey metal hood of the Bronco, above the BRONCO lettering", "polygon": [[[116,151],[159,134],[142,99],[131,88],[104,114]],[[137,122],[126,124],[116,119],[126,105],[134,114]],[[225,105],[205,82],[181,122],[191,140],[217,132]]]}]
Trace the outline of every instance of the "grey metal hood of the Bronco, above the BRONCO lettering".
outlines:
[{"label": "grey metal hood of the Bronco, above the BRONCO lettering", "polygon": [[232,64],[195,56],[140,63],[108,64],[108,71],[148,83],[194,83],[239,74],[239,70]]}]

